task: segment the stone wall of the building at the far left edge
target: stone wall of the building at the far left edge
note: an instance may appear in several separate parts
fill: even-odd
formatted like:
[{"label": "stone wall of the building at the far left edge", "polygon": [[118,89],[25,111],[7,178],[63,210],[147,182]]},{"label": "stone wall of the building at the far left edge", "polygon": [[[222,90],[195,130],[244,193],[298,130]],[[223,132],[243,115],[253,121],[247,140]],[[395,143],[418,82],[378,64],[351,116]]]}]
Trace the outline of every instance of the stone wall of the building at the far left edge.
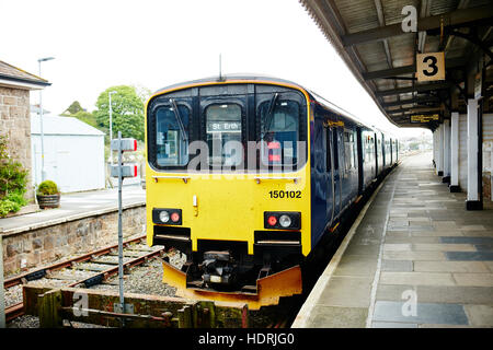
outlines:
[{"label": "stone wall of the building at the far left edge", "polygon": [[31,175],[30,91],[0,86],[0,133],[9,137],[10,156],[30,171],[26,199],[34,199]]}]

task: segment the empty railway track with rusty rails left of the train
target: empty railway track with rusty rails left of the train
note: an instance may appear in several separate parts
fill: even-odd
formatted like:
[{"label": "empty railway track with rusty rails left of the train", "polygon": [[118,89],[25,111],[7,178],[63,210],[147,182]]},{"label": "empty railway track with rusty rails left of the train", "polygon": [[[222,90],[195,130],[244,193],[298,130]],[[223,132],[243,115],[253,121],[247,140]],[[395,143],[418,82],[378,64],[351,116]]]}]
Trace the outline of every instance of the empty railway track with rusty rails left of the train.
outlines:
[{"label": "empty railway track with rusty rails left of the train", "polygon": [[[130,269],[149,259],[164,255],[164,247],[148,247],[145,245],[146,236],[139,236],[124,242],[124,269]],[[55,262],[43,268],[22,273],[4,281],[4,288],[25,284],[31,281],[47,279],[56,281],[57,287],[85,288],[103,283],[110,277],[118,273],[118,245],[112,245],[99,250],[77,256],[71,259]],[[10,322],[24,314],[23,302],[15,303],[5,308],[5,320]]]}]

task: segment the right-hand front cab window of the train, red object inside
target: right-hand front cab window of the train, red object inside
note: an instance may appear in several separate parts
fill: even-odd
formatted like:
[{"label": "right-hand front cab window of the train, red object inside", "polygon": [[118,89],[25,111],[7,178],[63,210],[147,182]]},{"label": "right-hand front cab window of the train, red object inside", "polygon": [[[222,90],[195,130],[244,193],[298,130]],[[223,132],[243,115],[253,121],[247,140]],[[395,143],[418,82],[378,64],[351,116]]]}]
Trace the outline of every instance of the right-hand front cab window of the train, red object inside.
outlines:
[{"label": "right-hand front cab window of the train, red object inside", "polygon": [[257,94],[256,141],[261,142],[257,168],[260,162],[270,170],[296,170],[306,163],[301,164],[298,159],[298,142],[306,141],[307,135],[302,129],[306,128],[306,105],[298,101],[297,94],[294,97],[293,92]]}]

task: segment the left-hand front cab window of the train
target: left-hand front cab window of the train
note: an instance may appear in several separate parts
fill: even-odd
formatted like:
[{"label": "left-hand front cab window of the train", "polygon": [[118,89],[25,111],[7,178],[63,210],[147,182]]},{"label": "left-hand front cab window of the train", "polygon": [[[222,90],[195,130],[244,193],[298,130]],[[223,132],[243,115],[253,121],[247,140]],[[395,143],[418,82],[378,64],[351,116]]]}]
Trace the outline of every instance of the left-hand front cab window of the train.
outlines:
[{"label": "left-hand front cab window of the train", "polygon": [[188,163],[190,109],[179,104],[177,110],[162,106],[156,112],[156,162],[160,166]]}]

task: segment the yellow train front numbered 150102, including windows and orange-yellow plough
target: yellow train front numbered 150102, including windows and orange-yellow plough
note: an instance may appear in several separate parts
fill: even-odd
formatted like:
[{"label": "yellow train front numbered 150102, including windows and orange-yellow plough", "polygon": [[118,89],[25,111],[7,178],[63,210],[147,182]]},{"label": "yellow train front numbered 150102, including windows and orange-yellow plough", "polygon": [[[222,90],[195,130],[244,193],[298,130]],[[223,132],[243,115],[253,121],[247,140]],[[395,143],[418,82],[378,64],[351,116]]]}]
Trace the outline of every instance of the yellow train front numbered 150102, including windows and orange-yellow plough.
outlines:
[{"label": "yellow train front numbered 150102, including windows and orange-yellow plough", "polygon": [[301,292],[310,252],[309,95],[285,81],[202,80],[146,107],[148,244],[186,254],[163,281],[251,308]]}]

